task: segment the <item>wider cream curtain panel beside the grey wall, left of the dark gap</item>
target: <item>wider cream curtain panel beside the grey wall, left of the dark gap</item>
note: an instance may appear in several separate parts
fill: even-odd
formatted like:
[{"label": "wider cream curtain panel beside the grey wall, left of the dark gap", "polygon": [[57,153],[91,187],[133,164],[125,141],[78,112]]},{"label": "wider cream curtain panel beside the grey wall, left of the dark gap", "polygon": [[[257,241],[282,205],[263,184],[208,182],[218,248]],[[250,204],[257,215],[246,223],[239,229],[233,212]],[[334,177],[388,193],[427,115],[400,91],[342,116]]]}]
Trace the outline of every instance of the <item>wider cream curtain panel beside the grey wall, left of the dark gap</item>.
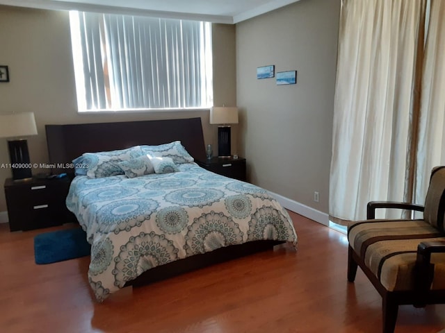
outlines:
[{"label": "wider cream curtain panel beside the grey wall, left of the dark gap", "polygon": [[331,221],[365,219],[369,200],[400,201],[412,186],[425,12],[426,0],[342,1]]}]

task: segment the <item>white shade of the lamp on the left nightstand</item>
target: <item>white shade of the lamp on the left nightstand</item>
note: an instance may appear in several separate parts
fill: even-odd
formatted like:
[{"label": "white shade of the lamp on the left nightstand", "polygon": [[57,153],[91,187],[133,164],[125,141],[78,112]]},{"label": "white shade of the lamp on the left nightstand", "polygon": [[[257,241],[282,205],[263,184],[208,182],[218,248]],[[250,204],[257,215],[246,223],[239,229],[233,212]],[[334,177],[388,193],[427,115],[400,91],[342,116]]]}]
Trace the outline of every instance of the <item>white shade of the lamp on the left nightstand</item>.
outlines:
[{"label": "white shade of the lamp on the left nightstand", "polygon": [[34,112],[0,115],[0,137],[37,135]]}]

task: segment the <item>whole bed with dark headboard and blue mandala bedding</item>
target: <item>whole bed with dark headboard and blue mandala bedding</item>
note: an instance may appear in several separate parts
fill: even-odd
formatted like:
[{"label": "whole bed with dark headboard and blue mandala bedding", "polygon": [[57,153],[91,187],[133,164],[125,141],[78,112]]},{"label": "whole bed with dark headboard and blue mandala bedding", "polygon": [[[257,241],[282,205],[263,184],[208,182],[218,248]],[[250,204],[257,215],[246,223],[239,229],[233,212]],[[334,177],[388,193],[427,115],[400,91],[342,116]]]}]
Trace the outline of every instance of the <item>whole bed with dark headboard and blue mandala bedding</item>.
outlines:
[{"label": "whole bed with dark headboard and blue mandala bedding", "polygon": [[95,177],[90,167],[73,177],[66,203],[92,245],[88,280],[99,302],[129,284],[297,244],[289,214],[268,191],[194,162],[204,158],[200,118],[47,125],[46,132],[56,172],[73,173],[71,161],[91,152],[124,151],[132,161],[147,152],[173,156],[174,172]]}]

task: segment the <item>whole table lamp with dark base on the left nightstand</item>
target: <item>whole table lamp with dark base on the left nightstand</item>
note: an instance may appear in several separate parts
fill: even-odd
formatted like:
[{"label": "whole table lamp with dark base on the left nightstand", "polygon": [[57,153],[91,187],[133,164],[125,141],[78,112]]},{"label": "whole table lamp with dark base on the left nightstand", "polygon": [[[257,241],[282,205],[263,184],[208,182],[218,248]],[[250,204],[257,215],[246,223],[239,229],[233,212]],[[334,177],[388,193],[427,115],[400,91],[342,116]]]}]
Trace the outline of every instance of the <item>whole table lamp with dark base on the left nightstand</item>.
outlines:
[{"label": "whole table lamp with dark base on the left nightstand", "polygon": [[34,112],[0,115],[0,137],[8,139],[13,180],[32,178],[28,142],[22,137],[37,135]]}]

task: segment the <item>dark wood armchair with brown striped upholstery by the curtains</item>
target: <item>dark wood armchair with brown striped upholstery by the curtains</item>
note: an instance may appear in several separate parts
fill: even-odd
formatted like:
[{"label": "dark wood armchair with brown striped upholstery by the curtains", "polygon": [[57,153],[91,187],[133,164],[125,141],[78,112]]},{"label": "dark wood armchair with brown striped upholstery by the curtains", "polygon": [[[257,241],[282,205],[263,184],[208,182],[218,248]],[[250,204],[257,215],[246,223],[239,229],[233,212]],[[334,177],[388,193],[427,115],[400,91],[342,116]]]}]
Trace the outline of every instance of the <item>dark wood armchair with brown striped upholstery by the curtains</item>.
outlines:
[{"label": "dark wood armchair with brown striped upholstery by the curtains", "polygon": [[[423,219],[375,219],[375,210],[423,212]],[[399,305],[445,303],[445,167],[432,169],[425,206],[371,201],[366,221],[348,228],[348,281],[359,266],[382,296],[382,332],[396,327]]]}]

